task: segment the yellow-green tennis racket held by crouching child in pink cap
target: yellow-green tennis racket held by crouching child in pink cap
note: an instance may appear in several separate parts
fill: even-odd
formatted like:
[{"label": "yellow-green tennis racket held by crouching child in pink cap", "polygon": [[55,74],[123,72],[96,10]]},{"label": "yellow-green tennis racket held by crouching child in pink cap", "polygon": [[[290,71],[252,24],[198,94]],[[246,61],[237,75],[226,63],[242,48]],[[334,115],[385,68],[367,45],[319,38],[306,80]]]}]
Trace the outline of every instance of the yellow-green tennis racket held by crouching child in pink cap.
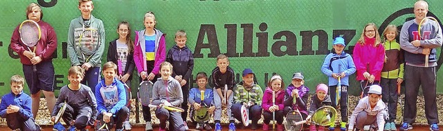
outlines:
[{"label": "yellow-green tennis racket held by crouching child in pink cap", "polygon": [[[325,105],[321,108],[318,108],[314,114],[312,114],[311,122],[316,125],[326,126],[335,123],[337,116],[337,110],[332,106]],[[296,122],[296,125],[302,125],[307,121]]]}]

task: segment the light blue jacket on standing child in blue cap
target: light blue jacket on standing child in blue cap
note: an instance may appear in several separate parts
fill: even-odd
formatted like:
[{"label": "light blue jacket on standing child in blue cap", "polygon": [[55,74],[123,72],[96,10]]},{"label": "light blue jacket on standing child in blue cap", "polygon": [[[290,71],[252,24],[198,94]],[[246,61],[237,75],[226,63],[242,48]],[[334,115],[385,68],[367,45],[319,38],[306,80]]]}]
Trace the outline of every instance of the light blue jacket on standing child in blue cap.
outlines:
[{"label": "light blue jacket on standing child in blue cap", "polygon": [[[340,70],[340,72],[338,70]],[[355,71],[356,68],[351,55],[345,53],[344,51],[340,55],[336,54],[334,51],[327,54],[325,62],[323,62],[323,66],[321,66],[321,72],[329,77],[329,86],[338,84],[338,79],[334,79],[334,77],[332,77],[332,73],[339,74],[341,72],[345,72],[346,74],[345,77],[340,79],[341,85],[349,86],[349,76],[354,74]]]}]

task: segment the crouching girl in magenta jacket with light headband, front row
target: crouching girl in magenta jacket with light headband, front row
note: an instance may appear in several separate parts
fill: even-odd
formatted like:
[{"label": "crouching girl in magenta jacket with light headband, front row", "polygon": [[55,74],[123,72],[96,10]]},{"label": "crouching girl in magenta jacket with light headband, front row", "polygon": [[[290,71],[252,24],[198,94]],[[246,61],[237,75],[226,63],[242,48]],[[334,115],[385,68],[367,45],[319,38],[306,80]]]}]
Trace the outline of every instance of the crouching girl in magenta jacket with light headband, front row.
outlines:
[{"label": "crouching girl in magenta jacket with light headband, front row", "polygon": [[[268,83],[268,87],[263,94],[262,108],[263,112],[263,130],[269,130],[269,123],[273,119],[273,112],[275,112],[275,121],[277,121],[277,130],[282,131],[284,127],[283,123],[283,99],[284,99],[284,83],[280,75],[275,74],[271,77]],[[272,92],[275,92],[275,105],[273,104]]]}]

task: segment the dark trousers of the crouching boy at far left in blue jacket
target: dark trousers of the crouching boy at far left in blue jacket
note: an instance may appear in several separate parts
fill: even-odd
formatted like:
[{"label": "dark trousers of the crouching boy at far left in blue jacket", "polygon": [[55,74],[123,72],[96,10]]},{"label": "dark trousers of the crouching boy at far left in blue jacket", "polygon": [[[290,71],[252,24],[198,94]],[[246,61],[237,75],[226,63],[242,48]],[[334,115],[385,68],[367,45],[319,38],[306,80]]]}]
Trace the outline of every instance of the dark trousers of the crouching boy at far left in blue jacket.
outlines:
[{"label": "dark trousers of the crouching boy at far left in blue jacket", "polygon": [[35,124],[34,118],[30,117],[25,120],[18,112],[6,114],[6,123],[11,130],[39,131],[40,126]]}]

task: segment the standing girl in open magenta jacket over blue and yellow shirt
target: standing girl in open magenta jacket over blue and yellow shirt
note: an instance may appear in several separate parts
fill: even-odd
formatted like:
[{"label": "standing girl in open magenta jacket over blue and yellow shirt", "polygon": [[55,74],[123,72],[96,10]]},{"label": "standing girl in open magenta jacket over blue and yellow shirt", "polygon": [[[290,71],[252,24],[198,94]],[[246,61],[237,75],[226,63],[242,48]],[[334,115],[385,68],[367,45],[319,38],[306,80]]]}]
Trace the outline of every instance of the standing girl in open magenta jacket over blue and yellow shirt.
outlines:
[{"label": "standing girl in open magenta jacket over blue and yellow shirt", "polygon": [[[153,12],[147,12],[143,19],[145,30],[136,31],[134,42],[134,63],[136,64],[139,81],[147,79],[155,83],[159,74],[160,64],[165,61],[165,35],[155,28],[156,21]],[[151,112],[148,106],[142,105],[143,119],[146,121],[145,130],[152,130]]]}]

